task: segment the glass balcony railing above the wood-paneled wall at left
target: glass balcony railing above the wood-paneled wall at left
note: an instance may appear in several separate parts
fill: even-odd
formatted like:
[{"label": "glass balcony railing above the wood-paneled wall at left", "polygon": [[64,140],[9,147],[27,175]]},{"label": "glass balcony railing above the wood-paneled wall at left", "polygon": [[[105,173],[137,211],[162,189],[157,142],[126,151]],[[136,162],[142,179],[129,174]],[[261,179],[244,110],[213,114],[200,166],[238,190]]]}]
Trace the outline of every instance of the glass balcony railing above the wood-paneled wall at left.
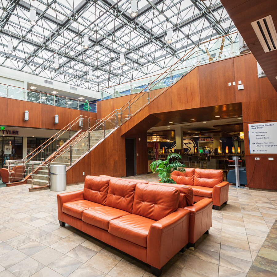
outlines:
[{"label": "glass balcony railing above the wood-paneled wall at left", "polygon": [[96,113],[96,103],[0,83],[0,97]]}]

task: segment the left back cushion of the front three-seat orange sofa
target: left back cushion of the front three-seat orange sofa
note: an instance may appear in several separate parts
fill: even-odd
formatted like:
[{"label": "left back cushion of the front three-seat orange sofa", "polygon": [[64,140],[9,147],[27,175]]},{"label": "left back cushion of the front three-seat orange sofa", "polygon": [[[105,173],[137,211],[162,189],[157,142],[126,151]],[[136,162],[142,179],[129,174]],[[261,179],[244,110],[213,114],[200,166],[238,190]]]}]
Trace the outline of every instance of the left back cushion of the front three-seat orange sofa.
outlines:
[{"label": "left back cushion of the front three-seat orange sofa", "polygon": [[88,175],[85,179],[84,199],[105,205],[108,188],[109,179]]}]

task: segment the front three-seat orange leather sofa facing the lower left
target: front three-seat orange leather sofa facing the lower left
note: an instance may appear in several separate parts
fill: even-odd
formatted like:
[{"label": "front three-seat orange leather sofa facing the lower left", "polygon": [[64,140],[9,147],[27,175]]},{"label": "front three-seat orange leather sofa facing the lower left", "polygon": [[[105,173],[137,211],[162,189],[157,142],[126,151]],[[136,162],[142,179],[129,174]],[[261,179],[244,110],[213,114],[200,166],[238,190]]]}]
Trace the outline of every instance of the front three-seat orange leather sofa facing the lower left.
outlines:
[{"label": "front three-seat orange leather sofa facing the lower left", "polygon": [[190,211],[174,187],[86,176],[84,189],[57,195],[58,220],[162,267],[188,243]]}]

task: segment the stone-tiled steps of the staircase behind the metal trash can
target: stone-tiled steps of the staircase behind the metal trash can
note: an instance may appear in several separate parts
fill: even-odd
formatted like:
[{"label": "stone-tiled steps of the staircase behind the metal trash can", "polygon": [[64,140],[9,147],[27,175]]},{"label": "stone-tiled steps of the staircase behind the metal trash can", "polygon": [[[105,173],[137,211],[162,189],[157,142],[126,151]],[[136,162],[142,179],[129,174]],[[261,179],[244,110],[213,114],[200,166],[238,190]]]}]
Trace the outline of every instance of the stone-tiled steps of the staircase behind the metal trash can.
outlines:
[{"label": "stone-tiled steps of the staircase behind the metal trash can", "polygon": [[[106,130],[108,133],[110,130]],[[80,133],[77,138],[79,138],[84,132]],[[90,133],[90,148],[103,138],[103,130],[93,131]],[[67,147],[66,147],[67,148]],[[76,143],[72,147],[72,163],[76,161],[80,156],[82,156],[86,151],[88,151],[88,136],[83,136],[80,142]],[[55,158],[60,155],[55,155]],[[65,164],[66,167],[70,165],[70,152],[67,150],[62,155],[60,155],[54,162],[51,164]],[[31,184],[31,178],[27,180],[28,184]],[[37,186],[46,186],[48,184],[48,169],[44,167],[43,170],[37,171],[37,174],[34,175],[34,185]]]}]

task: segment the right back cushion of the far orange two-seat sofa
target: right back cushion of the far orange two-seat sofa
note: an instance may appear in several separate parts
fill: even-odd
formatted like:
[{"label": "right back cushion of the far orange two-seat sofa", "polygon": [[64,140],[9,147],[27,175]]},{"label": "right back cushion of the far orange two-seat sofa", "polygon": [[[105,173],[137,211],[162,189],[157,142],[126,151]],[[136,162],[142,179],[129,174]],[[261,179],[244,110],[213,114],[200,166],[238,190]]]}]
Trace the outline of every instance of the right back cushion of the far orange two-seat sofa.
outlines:
[{"label": "right back cushion of the far orange two-seat sofa", "polygon": [[214,187],[223,182],[223,171],[219,169],[195,168],[194,185],[201,187]]}]

